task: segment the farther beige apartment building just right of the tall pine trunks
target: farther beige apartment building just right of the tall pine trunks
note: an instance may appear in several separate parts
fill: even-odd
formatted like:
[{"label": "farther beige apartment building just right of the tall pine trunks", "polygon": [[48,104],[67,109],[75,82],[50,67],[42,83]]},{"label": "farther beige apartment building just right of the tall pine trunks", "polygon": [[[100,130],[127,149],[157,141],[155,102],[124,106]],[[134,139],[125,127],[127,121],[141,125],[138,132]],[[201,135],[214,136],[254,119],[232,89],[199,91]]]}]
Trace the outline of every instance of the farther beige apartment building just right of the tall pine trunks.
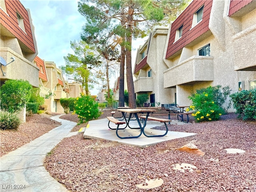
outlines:
[{"label": "farther beige apartment building just right of the tall pine trunks", "polygon": [[175,94],[171,88],[164,89],[163,71],[168,69],[163,60],[167,34],[168,27],[154,27],[148,40],[137,50],[134,92],[136,96],[148,94],[147,103],[151,106],[156,106],[156,102],[172,103]]}]

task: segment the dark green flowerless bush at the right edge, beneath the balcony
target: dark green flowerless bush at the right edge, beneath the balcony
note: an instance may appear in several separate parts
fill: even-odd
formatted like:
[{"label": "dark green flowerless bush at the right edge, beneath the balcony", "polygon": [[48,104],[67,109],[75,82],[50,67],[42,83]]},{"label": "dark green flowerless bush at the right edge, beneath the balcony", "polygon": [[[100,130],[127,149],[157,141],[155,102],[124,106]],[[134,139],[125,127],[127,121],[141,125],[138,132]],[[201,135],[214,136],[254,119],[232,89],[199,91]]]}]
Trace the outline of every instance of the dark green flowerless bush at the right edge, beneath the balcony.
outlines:
[{"label": "dark green flowerless bush at the right edge, beneath the balcony", "polygon": [[238,118],[256,120],[256,89],[242,90],[230,95]]}]

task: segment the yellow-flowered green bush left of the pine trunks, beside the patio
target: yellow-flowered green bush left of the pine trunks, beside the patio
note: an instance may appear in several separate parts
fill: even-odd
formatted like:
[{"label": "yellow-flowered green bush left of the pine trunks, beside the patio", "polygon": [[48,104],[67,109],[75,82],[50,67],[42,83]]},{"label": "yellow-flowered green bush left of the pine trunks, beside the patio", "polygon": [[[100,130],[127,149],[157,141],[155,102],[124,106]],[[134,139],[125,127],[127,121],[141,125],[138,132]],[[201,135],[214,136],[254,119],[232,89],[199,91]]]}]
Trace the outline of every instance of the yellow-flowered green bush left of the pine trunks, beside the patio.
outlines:
[{"label": "yellow-flowered green bush left of the pine trunks, beside the patio", "polygon": [[94,98],[91,96],[81,94],[81,97],[77,97],[74,103],[75,110],[73,114],[78,115],[80,123],[97,119],[101,115],[101,112],[98,109],[98,103],[95,102]]}]

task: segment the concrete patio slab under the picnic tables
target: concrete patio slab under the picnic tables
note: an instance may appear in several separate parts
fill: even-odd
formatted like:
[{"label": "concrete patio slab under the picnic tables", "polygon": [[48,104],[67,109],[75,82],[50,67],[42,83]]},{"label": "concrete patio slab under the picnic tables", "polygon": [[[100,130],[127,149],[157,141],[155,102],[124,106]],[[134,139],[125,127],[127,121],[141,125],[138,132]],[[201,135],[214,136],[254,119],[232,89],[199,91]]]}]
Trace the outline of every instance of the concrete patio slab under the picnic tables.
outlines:
[{"label": "concrete patio slab under the picnic tables", "polygon": [[[172,121],[171,124],[185,124],[183,122]],[[137,121],[130,122],[131,127],[138,127]],[[165,131],[163,130],[153,130],[153,127],[162,126],[164,123],[157,122],[157,121],[148,121],[145,133],[148,135],[159,135],[164,134]],[[116,127],[115,124],[110,124],[113,128]],[[120,125],[120,128],[124,127],[124,125]],[[140,129],[130,129],[126,128],[124,130],[118,130],[118,134],[120,136],[137,136],[140,134]],[[84,138],[90,139],[104,139],[110,141],[116,141],[122,144],[137,146],[140,148],[145,148],[146,146],[155,145],[160,142],[188,137],[195,135],[195,133],[187,133],[187,132],[174,132],[168,131],[166,136],[163,137],[146,137],[143,134],[139,138],[129,138],[129,139],[120,139],[116,136],[116,130],[111,130],[108,128],[108,119],[99,119],[99,120],[92,120],[88,122],[88,125],[84,131]]]}]

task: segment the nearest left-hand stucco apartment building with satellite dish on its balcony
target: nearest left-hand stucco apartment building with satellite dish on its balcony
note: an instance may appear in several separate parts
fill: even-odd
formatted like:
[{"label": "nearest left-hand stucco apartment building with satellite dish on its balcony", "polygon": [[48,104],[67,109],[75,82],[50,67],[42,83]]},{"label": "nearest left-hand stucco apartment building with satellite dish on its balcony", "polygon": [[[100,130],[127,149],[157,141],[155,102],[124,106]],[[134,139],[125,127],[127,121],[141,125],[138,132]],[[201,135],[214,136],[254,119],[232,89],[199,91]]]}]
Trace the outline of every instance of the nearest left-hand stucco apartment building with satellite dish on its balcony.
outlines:
[{"label": "nearest left-hand stucco apartment building with satellite dish on its balcony", "polygon": [[[20,1],[0,0],[0,14],[1,85],[8,79],[22,79],[38,87],[39,68],[33,62],[38,51],[30,11]],[[26,121],[25,109],[20,118]]]}]

